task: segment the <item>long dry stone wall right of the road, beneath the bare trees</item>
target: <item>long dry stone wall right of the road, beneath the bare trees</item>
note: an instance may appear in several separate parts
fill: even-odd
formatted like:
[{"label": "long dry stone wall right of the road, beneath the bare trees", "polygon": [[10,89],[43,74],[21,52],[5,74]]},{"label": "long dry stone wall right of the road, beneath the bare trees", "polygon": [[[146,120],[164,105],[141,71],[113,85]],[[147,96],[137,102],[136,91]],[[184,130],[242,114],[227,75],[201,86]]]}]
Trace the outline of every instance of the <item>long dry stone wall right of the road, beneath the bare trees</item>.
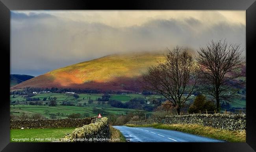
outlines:
[{"label": "long dry stone wall right of the road, beneath the bare trees", "polygon": [[208,127],[227,130],[246,130],[245,114],[188,114],[165,116],[161,118],[147,119],[142,121],[130,121],[126,124],[150,125],[150,124],[198,124]]}]

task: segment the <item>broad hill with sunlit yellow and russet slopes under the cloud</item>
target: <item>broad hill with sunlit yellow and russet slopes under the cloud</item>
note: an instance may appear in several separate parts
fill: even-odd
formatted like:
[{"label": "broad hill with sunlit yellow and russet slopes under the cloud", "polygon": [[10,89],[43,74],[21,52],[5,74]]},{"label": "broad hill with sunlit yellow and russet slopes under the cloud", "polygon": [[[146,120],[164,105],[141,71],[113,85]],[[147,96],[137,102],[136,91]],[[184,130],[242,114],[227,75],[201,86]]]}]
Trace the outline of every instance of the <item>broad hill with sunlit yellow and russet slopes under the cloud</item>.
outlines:
[{"label": "broad hill with sunlit yellow and russet slopes under the cloud", "polygon": [[62,67],[12,87],[58,87],[139,91],[139,78],[163,53],[115,54]]}]

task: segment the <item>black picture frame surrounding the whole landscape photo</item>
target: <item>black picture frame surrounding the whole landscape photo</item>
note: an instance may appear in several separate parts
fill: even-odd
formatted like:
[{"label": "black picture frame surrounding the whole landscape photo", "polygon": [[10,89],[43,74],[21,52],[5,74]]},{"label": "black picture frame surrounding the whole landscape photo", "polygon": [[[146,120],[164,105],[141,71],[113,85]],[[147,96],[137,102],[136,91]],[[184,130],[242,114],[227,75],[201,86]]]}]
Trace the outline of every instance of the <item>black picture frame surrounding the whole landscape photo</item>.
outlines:
[{"label": "black picture frame surrounding the whole landscape photo", "polygon": [[[9,142],[9,73],[10,69],[10,10],[246,10],[246,59],[247,59],[247,134],[246,143],[10,143]],[[136,0],[136,1],[93,1],[93,0],[0,0],[0,42],[2,56],[2,92],[5,97],[0,104],[0,150],[9,151],[50,151],[58,146],[58,151],[68,147],[82,148],[82,150],[134,150],[132,146],[146,149],[152,147],[164,150],[192,150],[203,152],[217,151],[245,151],[256,150],[256,119],[253,101],[254,83],[253,68],[254,43],[256,42],[256,2],[255,0]],[[248,83],[249,82],[249,83]],[[87,143],[88,144],[88,143]],[[76,149],[74,149],[76,150]],[[135,149],[136,150],[136,149]]]}]

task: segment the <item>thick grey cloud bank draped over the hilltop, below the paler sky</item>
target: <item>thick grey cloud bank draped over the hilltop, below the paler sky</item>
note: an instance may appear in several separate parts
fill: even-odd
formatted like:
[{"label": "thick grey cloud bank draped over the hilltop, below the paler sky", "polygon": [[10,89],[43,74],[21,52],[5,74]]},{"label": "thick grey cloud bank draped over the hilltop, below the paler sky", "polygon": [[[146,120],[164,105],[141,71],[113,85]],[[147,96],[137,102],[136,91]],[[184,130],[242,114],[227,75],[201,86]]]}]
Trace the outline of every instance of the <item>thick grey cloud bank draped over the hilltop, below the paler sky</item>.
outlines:
[{"label": "thick grey cloud bank draped over the hilltop, below the paler sky", "polygon": [[[113,53],[158,51],[183,45],[194,50],[226,38],[245,47],[245,26],[220,22],[204,25],[195,18],[150,20],[141,26],[111,27],[30,14],[11,18],[11,72],[43,74]],[[24,18],[26,22],[19,22]],[[30,19],[26,19],[30,18]],[[37,72],[35,72],[37,71]],[[41,72],[40,72],[41,71]]]}]

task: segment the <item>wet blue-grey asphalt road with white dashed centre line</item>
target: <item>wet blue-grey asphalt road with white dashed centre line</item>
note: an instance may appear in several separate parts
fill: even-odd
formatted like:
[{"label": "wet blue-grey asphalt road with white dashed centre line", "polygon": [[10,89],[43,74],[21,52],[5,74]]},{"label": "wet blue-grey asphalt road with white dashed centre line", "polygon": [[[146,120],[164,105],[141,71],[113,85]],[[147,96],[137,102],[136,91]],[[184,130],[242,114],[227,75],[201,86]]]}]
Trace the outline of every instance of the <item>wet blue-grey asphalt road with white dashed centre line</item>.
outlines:
[{"label": "wet blue-grey asphalt road with white dashed centre line", "polygon": [[150,127],[113,126],[130,142],[225,142],[173,130]]}]

